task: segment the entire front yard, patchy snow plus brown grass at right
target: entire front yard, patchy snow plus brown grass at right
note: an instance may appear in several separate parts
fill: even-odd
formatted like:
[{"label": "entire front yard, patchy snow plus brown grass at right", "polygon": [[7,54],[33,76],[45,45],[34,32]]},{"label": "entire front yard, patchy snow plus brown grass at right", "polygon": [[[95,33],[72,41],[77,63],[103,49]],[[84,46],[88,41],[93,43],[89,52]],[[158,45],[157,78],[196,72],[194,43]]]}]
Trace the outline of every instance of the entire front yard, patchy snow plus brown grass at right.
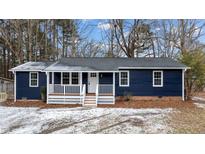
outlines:
[{"label": "entire front yard, patchy snow plus brown grass at right", "polygon": [[0,106],[0,133],[205,133],[205,105],[155,103],[158,108]]}]

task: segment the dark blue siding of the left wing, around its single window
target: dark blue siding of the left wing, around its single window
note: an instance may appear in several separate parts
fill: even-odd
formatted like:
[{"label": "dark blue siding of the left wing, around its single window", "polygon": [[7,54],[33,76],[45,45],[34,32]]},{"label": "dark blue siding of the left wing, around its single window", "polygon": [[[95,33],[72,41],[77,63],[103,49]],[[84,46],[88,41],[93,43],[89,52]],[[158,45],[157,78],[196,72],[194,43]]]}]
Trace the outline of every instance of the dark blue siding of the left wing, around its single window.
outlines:
[{"label": "dark blue siding of the left wing, around its single window", "polygon": [[16,98],[41,99],[41,87],[46,86],[46,74],[39,72],[39,86],[29,87],[29,72],[16,73]]}]

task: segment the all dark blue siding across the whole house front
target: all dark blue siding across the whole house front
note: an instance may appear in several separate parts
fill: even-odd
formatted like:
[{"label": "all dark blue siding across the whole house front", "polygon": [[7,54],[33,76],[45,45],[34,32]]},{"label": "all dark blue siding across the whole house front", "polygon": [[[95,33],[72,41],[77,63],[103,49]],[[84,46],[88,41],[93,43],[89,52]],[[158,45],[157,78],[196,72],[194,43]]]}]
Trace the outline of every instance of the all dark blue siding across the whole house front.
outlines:
[{"label": "all dark blue siding across the whole house front", "polygon": [[[119,87],[119,73],[115,75],[115,94],[123,96],[130,93],[133,96],[181,96],[182,95],[182,71],[163,70],[164,86],[152,86],[153,70],[129,70],[130,86]],[[88,73],[83,73],[83,84],[88,83]],[[61,73],[54,73],[55,84],[60,84]],[[100,73],[99,84],[112,84],[113,73]],[[46,75],[39,72],[39,87],[29,87],[29,72],[16,73],[16,97],[21,99],[40,99],[40,89],[46,86]],[[86,87],[87,91],[87,87]]]}]

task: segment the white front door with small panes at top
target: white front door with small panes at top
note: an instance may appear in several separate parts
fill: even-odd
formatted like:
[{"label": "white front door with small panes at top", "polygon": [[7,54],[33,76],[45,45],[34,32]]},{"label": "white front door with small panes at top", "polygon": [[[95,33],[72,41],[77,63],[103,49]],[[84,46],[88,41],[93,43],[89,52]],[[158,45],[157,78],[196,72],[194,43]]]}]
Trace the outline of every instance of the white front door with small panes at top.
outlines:
[{"label": "white front door with small panes at top", "polygon": [[88,93],[96,92],[97,75],[97,73],[88,73]]}]

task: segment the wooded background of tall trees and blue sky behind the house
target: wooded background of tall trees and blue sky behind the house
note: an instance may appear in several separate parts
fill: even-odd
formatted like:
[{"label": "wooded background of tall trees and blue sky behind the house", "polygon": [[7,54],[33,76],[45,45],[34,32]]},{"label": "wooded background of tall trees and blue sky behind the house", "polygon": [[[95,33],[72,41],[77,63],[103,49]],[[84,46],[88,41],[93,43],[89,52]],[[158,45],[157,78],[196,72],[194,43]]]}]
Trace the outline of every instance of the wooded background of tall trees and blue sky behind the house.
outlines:
[{"label": "wooded background of tall trees and blue sky behind the house", "polygon": [[[101,40],[89,35],[101,26]],[[61,57],[171,57],[204,50],[204,20],[0,20],[0,76],[27,61]]]}]

